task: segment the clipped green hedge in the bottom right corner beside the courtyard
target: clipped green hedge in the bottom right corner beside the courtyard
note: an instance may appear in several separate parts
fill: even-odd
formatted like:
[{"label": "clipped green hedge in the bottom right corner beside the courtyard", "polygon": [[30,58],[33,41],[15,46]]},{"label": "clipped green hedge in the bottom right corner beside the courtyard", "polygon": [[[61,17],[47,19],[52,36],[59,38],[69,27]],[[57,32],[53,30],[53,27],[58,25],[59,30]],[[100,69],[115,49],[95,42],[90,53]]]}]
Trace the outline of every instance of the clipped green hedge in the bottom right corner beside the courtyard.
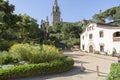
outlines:
[{"label": "clipped green hedge in the bottom right corner beside the courtyard", "polygon": [[120,80],[120,64],[113,63],[110,67],[110,73],[107,77],[107,80]]}]

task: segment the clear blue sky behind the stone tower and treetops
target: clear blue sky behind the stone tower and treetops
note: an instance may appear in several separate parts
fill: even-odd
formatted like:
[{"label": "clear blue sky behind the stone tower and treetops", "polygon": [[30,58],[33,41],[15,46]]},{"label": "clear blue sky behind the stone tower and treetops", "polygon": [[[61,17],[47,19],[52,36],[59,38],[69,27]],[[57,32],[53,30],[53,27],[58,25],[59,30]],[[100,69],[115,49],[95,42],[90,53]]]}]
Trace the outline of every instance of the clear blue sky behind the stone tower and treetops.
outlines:
[{"label": "clear blue sky behind the stone tower and treetops", "polygon": [[[51,16],[54,0],[9,0],[15,5],[16,14],[27,14],[35,18],[40,24],[41,19]],[[65,22],[76,22],[83,19],[92,19],[100,10],[105,11],[120,5],[120,0],[58,0],[61,18]]]}]

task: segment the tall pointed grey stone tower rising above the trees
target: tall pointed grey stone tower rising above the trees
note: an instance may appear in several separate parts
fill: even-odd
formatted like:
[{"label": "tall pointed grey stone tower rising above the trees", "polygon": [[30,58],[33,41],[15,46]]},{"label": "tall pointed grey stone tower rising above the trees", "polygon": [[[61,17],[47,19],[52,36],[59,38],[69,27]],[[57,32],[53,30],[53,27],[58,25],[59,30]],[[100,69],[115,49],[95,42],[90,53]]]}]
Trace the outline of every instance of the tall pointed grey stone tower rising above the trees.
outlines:
[{"label": "tall pointed grey stone tower rising above the trees", "polygon": [[60,14],[58,2],[55,0],[51,13],[51,25],[53,25],[55,22],[60,23]]}]

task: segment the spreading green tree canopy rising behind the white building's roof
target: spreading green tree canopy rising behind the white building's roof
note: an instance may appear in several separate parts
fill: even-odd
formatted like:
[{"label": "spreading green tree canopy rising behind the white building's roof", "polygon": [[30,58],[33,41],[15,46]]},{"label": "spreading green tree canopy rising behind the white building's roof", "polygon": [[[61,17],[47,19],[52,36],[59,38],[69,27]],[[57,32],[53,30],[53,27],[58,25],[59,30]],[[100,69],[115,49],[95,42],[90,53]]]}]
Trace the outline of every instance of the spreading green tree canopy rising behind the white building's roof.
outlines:
[{"label": "spreading green tree canopy rising behind the white building's roof", "polygon": [[111,24],[120,26],[120,6],[112,7],[93,16],[95,22],[105,23],[106,20],[112,21]]}]

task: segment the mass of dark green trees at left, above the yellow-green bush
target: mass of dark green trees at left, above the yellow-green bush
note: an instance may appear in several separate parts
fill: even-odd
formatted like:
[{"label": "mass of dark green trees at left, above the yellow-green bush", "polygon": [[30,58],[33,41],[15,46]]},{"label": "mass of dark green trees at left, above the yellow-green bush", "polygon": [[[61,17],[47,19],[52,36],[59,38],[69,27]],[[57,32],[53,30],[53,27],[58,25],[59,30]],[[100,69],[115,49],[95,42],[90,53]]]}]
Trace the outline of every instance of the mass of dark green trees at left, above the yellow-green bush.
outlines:
[{"label": "mass of dark green trees at left, above the yellow-green bush", "polygon": [[[40,42],[41,31],[37,20],[26,14],[14,14],[14,5],[0,0],[0,50],[7,50],[12,43]],[[42,34],[41,34],[42,35]],[[10,45],[8,44],[10,43]]]}]

